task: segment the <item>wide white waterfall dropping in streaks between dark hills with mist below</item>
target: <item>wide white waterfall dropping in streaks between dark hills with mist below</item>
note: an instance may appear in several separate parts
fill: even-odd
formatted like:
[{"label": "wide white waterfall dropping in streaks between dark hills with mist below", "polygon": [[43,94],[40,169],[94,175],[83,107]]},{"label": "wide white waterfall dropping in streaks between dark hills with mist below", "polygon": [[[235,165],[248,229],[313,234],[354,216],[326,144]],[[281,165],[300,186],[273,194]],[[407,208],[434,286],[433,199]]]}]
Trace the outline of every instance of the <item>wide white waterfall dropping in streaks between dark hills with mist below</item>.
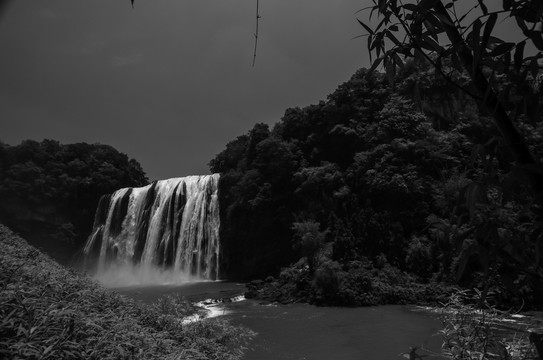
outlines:
[{"label": "wide white waterfall dropping in streaks between dark hills with mist below", "polygon": [[83,250],[104,284],[219,278],[219,174],[156,181],[100,199]]}]

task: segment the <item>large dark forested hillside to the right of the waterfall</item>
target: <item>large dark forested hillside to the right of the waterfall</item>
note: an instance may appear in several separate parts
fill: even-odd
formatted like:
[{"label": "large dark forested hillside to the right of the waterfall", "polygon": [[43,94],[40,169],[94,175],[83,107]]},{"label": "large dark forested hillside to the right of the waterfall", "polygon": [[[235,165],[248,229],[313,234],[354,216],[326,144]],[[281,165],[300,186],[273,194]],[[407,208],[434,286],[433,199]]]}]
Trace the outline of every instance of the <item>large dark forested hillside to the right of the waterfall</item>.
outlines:
[{"label": "large dark forested hillside to the right of the waterfall", "polygon": [[[541,158],[541,122],[518,122]],[[502,301],[540,296],[524,266],[540,259],[523,245],[539,236],[537,208],[485,113],[430,66],[406,63],[393,79],[362,69],[210,166],[231,274],[278,274],[302,257],[292,269],[309,276],[306,300],[327,304],[345,302],[337,289],[364,302],[353,279],[383,263],[418,282],[489,284]],[[516,257],[500,257],[513,239]]]}]

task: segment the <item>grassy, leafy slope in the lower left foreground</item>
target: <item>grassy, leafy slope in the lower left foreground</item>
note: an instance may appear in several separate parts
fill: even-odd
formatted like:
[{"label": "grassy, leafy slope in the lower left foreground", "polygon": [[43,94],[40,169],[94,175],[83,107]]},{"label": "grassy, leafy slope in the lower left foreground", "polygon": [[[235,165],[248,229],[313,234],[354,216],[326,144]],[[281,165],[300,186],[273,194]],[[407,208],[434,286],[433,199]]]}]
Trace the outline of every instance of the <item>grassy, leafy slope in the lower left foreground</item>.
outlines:
[{"label": "grassy, leafy slope in the lower left foreground", "polygon": [[66,270],[0,225],[3,359],[239,359],[252,337],[226,321],[182,324],[182,299],[146,306]]}]

